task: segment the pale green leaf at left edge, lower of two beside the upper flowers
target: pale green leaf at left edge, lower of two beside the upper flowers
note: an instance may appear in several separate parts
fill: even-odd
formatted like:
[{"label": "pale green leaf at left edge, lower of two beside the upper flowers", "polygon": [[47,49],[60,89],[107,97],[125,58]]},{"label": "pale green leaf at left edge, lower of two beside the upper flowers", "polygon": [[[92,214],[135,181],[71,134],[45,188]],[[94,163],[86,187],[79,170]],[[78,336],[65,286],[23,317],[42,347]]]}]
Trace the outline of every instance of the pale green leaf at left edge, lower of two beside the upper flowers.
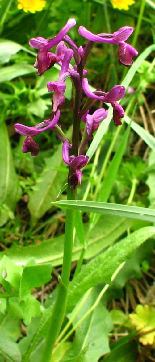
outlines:
[{"label": "pale green leaf at left edge, lower of two beside the upper flowers", "polygon": [[26,63],[14,64],[13,66],[4,67],[1,69],[0,83],[12,80],[21,75],[35,73],[36,69]]}]

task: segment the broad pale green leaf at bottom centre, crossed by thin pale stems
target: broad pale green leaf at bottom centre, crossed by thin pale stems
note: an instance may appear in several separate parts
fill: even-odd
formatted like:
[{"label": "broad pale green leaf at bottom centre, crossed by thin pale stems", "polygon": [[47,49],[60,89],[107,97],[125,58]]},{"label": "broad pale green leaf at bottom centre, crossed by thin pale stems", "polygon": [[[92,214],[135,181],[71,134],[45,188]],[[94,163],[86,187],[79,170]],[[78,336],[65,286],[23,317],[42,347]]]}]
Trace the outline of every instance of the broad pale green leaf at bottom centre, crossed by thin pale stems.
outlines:
[{"label": "broad pale green leaf at bottom centre, crossed by thin pale stems", "polygon": [[[86,312],[92,307],[97,297],[95,288],[92,289],[87,300],[80,308],[78,314],[74,318],[72,324],[75,326]],[[72,311],[69,318],[75,313],[78,305]],[[109,337],[108,333],[113,329],[112,319],[108,310],[99,303],[95,310],[79,324],[75,331],[75,338],[72,347],[62,359],[62,362],[69,358],[78,356],[81,351],[88,346],[86,361],[97,362],[101,355],[108,353]]]}]

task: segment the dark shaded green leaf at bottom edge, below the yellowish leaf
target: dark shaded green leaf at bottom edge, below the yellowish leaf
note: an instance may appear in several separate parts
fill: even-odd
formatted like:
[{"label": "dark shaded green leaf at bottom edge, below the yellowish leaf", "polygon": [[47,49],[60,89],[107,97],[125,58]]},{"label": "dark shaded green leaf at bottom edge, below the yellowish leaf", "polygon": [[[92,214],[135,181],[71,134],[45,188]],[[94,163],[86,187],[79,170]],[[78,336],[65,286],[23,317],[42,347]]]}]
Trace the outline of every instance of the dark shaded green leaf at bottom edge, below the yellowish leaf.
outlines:
[{"label": "dark shaded green leaf at bottom edge, below the yellowish leaf", "polygon": [[138,357],[136,341],[129,341],[120,347],[113,349],[101,362],[135,362]]}]

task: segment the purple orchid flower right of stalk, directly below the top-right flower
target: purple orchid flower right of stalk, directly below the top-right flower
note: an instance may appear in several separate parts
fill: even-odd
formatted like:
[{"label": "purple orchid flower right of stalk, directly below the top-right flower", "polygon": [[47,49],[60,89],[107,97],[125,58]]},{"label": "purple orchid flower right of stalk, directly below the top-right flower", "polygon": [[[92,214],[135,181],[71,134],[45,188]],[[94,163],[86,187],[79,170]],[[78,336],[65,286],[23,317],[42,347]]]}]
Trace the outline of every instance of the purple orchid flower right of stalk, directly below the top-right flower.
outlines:
[{"label": "purple orchid flower right of stalk, directly below the top-right flower", "polygon": [[124,110],[116,101],[119,101],[125,96],[125,87],[121,85],[115,85],[110,92],[102,92],[100,89],[97,89],[95,92],[91,92],[88,84],[88,79],[83,79],[83,90],[88,97],[99,99],[104,103],[110,103],[113,107],[113,120],[116,125],[120,126],[122,122],[120,118],[124,117]]}]

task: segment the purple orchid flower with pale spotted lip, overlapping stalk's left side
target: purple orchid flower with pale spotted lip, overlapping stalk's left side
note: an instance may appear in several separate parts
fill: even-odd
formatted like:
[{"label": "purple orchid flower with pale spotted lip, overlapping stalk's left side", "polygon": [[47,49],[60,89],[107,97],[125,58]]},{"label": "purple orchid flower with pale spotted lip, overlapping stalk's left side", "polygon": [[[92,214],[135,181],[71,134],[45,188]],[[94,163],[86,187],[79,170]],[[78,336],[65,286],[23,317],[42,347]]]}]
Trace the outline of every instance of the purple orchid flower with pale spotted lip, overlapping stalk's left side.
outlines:
[{"label": "purple orchid flower with pale spotted lip, overlapping stalk's left side", "polygon": [[68,67],[70,65],[71,58],[74,52],[71,49],[66,49],[64,51],[64,58],[62,61],[62,67],[59,74],[58,81],[47,82],[48,92],[53,92],[53,112],[56,112],[57,109],[62,107],[64,104],[64,92],[66,90],[65,80],[70,77],[70,73],[68,72]]}]

